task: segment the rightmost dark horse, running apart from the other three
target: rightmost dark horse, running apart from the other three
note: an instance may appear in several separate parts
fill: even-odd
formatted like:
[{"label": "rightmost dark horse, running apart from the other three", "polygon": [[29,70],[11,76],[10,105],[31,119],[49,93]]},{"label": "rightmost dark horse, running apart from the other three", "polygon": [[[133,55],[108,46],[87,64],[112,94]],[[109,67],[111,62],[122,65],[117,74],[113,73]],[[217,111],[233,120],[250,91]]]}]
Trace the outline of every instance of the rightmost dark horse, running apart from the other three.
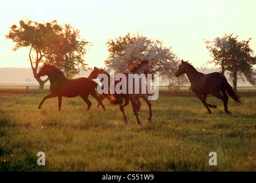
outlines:
[{"label": "rightmost dark horse, running apart from the other three", "polygon": [[[187,77],[190,80],[192,92],[194,92],[196,97],[203,102],[203,105],[206,107],[209,114],[211,114],[211,110],[208,107],[216,109],[217,106],[207,104],[207,94],[212,94],[212,96],[223,101],[226,114],[231,114],[231,112],[227,110],[227,102],[229,101],[229,97],[227,97],[226,91],[229,96],[233,98],[235,104],[242,105],[242,102],[239,100],[241,96],[234,92],[233,88],[227,82],[227,78],[222,73],[199,73],[195,67],[191,65],[191,63],[188,63],[188,61],[184,62],[182,60],[182,63],[179,65],[179,69],[175,73],[175,76],[179,77],[179,75],[184,74],[187,74]],[[222,92],[223,96],[220,94],[220,91]]]}]

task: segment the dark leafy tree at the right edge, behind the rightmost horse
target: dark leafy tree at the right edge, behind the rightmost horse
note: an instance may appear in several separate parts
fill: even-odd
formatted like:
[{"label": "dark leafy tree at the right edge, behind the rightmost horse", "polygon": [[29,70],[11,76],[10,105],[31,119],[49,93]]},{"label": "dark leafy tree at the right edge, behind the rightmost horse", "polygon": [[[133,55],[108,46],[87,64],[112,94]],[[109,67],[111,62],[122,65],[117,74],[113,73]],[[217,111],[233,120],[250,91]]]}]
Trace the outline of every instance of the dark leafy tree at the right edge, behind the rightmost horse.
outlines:
[{"label": "dark leafy tree at the right edge, behind the rightmost horse", "polygon": [[249,81],[256,85],[256,73],[253,71],[253,65],[256,64],[256,57],[250,48],[248,41],[238,41],[238,35],[224,34],[223,37],[215,38],[214,41],[206,41],[206,48],[214,59],[207,64],[215,63],[215,66],[221,66],[221,73],[229,71],[230,79],[233,81],[235,92],[237,92],[238,79]]}]

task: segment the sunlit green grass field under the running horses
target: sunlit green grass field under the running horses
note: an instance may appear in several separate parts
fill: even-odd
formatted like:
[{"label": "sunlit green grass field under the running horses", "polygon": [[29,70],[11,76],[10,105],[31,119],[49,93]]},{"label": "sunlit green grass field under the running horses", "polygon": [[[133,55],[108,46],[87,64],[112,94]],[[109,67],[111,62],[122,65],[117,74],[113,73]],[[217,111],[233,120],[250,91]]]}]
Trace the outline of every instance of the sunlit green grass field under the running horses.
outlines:
[{"label": "sunlit green grass field under the running horses", "polygon": [[[194,95],[161,95],[152,101],[152,122],[141,101],[138,126],[131,104],[124,125],[119,107],[92,108],[81,98],[57,98],[38,104],[46,94],[0,94],[0,171],[255,171],[256,96],[243,106],[230,98],[227,116],[222,101],[208,114]],[[217,165],[210,166],[210,152]],[[45,166],[37,153],[45,153]]]}]

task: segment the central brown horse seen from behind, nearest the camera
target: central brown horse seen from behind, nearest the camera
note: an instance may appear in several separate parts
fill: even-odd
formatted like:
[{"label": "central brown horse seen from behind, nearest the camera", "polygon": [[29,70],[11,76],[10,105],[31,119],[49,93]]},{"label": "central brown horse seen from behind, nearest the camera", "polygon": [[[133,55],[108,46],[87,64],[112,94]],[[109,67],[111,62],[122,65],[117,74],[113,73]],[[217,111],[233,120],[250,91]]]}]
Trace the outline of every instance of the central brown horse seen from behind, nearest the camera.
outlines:
[{"label": "central brown horse seen from behind, nearest the camera", "polygon": [[[137,100],[140,97],[143,98],[143,100],[145,102],[147,102],[147,104],[148,104],[148,108],[149,108],[148,122],[151,122],[151,120],[152,120],[151,102],[148,100],[148,94],[147,94],[147,92],[145,92],[145,94],[143,94],[141,92],[141,82],[144,82],[144,81],[140,80],[140,85],[139,85],[140,88],[139,88],[139,93],[138,94],[135,94],[135,92],[134,92],[134,89],[135,89],[135,83],[134,82],[132,83],[133,93],[132,94],[128,93],[129,86],[131,86],[131,85],[128,85],[128,82],[129,82],[128,81],[128,74],[133,73],[133,74],[139,74],[139,75],[140,74],[146,74],[147,75],[147,74],[151,73],[151,71],[149,69],[149,66],[148,66],[148,62],[149,62],[149,59],[143,59],[141,61],[139,59],[139,63],[137,63],[136,65],[133,65],[129,68],[130,73],[122,73],[122,74],[125,75],[125,79],[127,80],[126,81],[126,83],[127,83],[126,93],[120,93],[120,94],[113,93],[110,96],[109,102],[111,102],[111,104],[114,104],[114,105],[119,105],[119,108],[120,108],[120,110],[121,110],[121,112],[123,113],[123,116],[124,116],[124,123],[125,124],[128,124],[128,121],[127,121],[127,117],[125,116],[125,113],[124,113],[124,106],[123,106],[124,99],[127,99],[127,100],[131,101],[132,108],[133,108],[133,113],[136,116],[138,125],[141,125],[141,122],[139,120],[139,113],[138,113],[139,104],[137,102]],[[115,82],[115,86],[117,85],[117,83],[118,82]],[[111,85],[113,85],[113,83]]]}]

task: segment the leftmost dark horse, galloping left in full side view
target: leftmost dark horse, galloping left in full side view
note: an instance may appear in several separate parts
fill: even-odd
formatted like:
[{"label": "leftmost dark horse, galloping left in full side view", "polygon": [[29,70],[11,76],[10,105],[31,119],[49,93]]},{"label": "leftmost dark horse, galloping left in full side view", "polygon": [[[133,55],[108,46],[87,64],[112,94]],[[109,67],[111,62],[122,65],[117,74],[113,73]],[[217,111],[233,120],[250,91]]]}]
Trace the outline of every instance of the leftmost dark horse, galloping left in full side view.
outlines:
[{"label": "leftmost dark horse, galloping left in full side view", "polygon": [[94,97],[103,110],[105,111],[105,106],[101,102],[100,98],[97,96],[96,89],[98,83],[92,81],[88,78],[76,78],[67,79],[64,72],[54,65],[44,64],[37,77],[40,78],[44,75],[48,75],[50,80],[50,94],[43,98],[38,109],[41,109],[42,104],[48,98],[54,98],[58,96],[58,110],[61,110],[62,97],[77,97],[80,96],[82,100],[88,105],[87,110],[92,106],[92,102],[89,101],[89,94]]}]

